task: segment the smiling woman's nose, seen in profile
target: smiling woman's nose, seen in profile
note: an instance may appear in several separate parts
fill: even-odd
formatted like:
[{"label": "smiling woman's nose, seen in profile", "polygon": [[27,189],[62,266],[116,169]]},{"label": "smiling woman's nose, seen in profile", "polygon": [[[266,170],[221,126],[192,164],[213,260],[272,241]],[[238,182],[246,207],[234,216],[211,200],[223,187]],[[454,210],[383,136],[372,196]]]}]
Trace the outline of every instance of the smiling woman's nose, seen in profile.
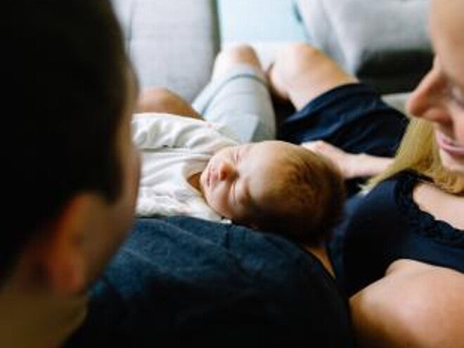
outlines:
[{"label": "smiling woman's nose, seen in profile", "polygon": [[446,79],[435,64],[409,97],[408,114],[434,122],[446,119],[446,88]]}]

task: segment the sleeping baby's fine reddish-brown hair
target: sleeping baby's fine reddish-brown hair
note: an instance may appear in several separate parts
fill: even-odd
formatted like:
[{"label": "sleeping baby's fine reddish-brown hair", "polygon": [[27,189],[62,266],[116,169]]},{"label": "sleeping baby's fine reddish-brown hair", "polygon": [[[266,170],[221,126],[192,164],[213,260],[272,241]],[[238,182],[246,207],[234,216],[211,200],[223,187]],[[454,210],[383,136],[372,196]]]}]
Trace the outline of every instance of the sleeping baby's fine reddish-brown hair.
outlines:
[{"label": "sleeping baby's fine reddish-brown hair", "polygon": [[328,239],[342,218],[342,175],[332,162],[303,147],[295,146],[284,162],[285,175],[267,197],[269,209],[254,207],[262,217],[258,228],[308,244]]}]

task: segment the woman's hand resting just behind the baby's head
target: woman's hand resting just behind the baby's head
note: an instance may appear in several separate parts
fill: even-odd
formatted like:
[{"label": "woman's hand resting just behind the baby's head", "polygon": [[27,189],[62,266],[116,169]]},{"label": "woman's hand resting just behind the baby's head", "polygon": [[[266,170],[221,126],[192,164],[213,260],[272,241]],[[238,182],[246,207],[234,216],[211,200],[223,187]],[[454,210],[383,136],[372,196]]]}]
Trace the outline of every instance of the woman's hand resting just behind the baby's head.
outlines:
[{"label": "woman's hand resting just behind the baby's head", "polygon": [[322,140],[307,141],[306,143],[302,143],[301,146],[331,160],[340,169],[344,179],[352,179],[356,176],[355,171],[353,170],[354,155],[351,153],[347,153],[344,150]]}]

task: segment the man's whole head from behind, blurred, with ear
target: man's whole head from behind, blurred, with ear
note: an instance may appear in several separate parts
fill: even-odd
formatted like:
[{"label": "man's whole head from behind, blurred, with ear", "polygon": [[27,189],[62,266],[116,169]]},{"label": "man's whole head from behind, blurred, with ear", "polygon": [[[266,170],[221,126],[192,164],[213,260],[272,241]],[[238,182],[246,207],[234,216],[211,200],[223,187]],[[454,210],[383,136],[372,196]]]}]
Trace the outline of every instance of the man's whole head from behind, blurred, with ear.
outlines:
[{"label": "man's whole head from behind, blurred, with ear", "polygon": [[79,292],[131,224],[136,80],[109,1],[15,0],[2,11],[4,129],[13,139],[4,172],[14,190],[4,195],[1,279]]}]

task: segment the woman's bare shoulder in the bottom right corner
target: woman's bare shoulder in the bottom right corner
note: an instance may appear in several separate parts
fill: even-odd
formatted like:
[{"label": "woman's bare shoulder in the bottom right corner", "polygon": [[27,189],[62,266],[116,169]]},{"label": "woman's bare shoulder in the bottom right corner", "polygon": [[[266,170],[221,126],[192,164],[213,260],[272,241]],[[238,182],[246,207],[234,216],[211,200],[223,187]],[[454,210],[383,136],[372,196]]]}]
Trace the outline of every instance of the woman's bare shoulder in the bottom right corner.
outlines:
[{"label": "woman's bare shoulder in the bottom right corner", "polygon": [[464,347],[464,274],[399,260],[350,299],[360,347]]}]

